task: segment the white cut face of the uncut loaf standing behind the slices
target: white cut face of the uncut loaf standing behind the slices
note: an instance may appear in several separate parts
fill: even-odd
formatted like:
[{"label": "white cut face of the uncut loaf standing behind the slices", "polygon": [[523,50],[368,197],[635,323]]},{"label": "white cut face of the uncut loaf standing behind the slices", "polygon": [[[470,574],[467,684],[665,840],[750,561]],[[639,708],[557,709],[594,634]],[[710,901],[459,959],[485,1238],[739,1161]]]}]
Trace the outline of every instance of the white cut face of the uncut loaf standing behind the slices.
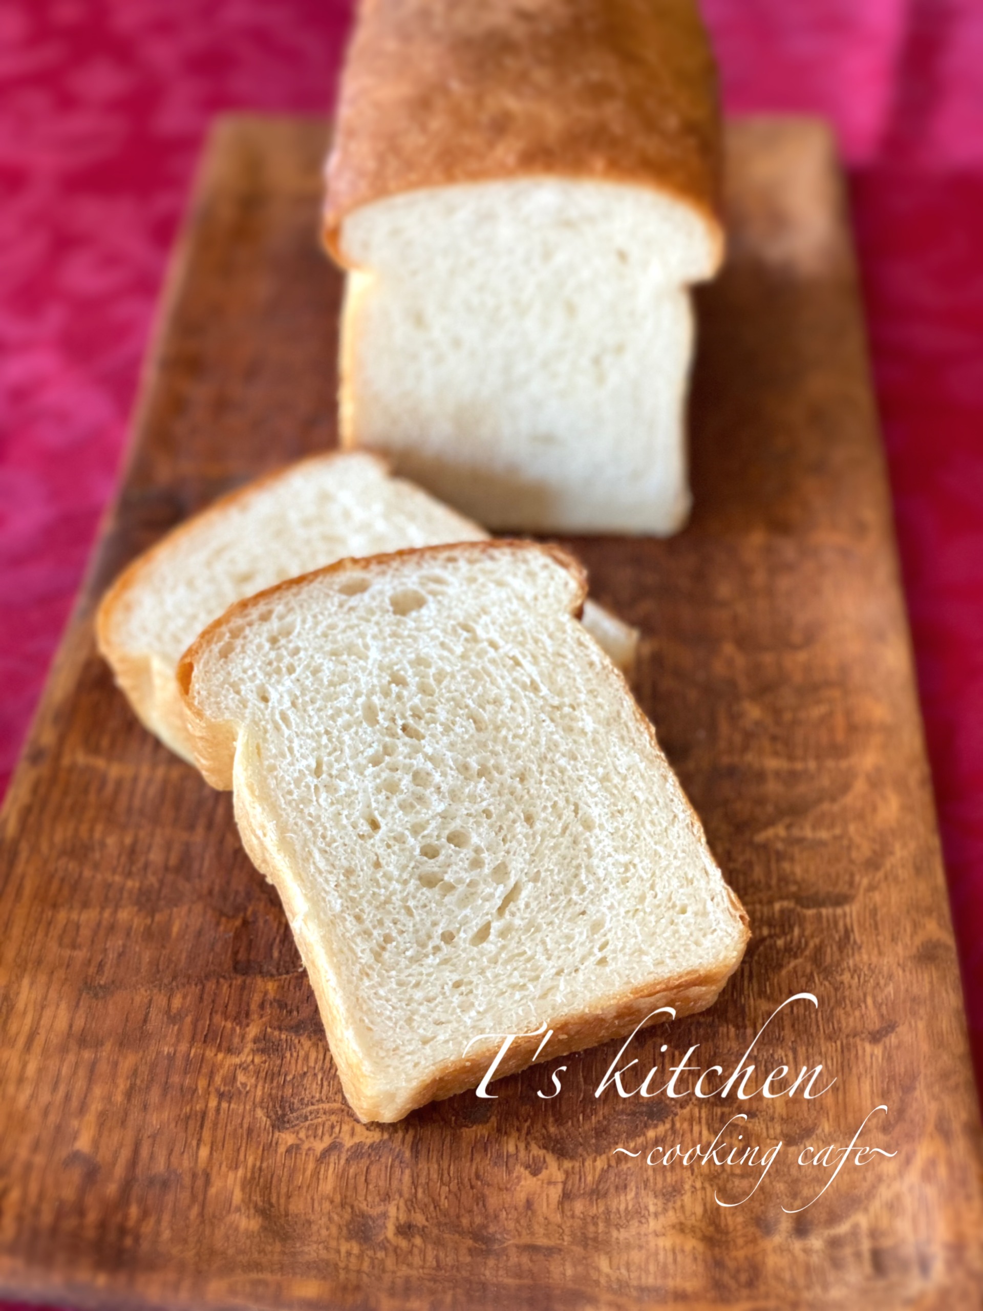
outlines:
[{"label": "white cut face of the uncut loaf standing behind the slices", "polygon": [[518,178],[347,214],[342,443],[490,528],[676,531],[704,214],[653,187]]}]

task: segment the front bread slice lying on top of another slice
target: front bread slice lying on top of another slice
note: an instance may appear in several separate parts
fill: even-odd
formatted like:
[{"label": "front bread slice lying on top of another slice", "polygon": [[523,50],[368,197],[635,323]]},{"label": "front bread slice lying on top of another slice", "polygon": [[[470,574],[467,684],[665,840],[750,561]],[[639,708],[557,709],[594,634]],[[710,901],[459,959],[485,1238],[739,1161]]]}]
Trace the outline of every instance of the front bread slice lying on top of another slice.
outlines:
[{"label": "front bread slice lying on top of another slice", "polygon": [[[277,885],[345,1095],[398,1120],[709,1006],[748,929],[651,725],[530,543],[343,560],[182,658],[204,777]],[[467,1054],[465,1054],[467,1050]]]}]

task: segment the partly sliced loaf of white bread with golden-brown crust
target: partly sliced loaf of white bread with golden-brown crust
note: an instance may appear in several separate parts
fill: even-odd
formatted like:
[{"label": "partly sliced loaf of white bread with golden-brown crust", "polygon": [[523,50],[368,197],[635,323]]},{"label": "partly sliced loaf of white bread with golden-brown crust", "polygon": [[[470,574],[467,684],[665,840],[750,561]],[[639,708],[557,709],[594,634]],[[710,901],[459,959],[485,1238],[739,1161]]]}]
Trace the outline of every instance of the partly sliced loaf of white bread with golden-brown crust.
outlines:
[{"label": "partly sliced loaf of white bread with golden-brown crust", "polygon": [[363,0],[325,208],[342,443],[489,528],[679,528],[718,149],[695,0]]}]

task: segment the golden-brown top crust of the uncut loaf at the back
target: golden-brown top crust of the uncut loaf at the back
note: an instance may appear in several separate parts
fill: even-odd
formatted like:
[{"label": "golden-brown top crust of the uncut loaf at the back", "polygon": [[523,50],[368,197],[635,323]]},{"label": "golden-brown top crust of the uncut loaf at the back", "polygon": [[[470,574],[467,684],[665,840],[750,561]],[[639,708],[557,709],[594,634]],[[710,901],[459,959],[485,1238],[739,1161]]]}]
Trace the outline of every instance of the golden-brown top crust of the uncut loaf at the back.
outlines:
[{"label": "golden-brown top crust of the uncut loaf at the back", "polygon": [[325,236],[409,190],[528,177],[668,193],[717,250],[720,123],[693,0],[363,0]]}]

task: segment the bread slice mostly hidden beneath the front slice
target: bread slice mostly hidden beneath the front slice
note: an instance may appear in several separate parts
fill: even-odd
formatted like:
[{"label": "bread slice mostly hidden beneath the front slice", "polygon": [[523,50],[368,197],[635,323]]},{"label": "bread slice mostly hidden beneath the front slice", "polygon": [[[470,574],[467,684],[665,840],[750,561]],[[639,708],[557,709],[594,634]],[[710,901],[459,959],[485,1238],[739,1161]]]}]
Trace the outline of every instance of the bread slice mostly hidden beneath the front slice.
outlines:
[{"label": "bread slice mostly hidden beneath the front slice", "polygon": [[[315,455],[224,497],[135,560],[100,606],[98,646],[144,726],[193,763],[174,670],[233,602],[345,556],[486,538],[391,477],[379,456]],[[583,623],[630,674],[638,631],[591,602]]]}]

